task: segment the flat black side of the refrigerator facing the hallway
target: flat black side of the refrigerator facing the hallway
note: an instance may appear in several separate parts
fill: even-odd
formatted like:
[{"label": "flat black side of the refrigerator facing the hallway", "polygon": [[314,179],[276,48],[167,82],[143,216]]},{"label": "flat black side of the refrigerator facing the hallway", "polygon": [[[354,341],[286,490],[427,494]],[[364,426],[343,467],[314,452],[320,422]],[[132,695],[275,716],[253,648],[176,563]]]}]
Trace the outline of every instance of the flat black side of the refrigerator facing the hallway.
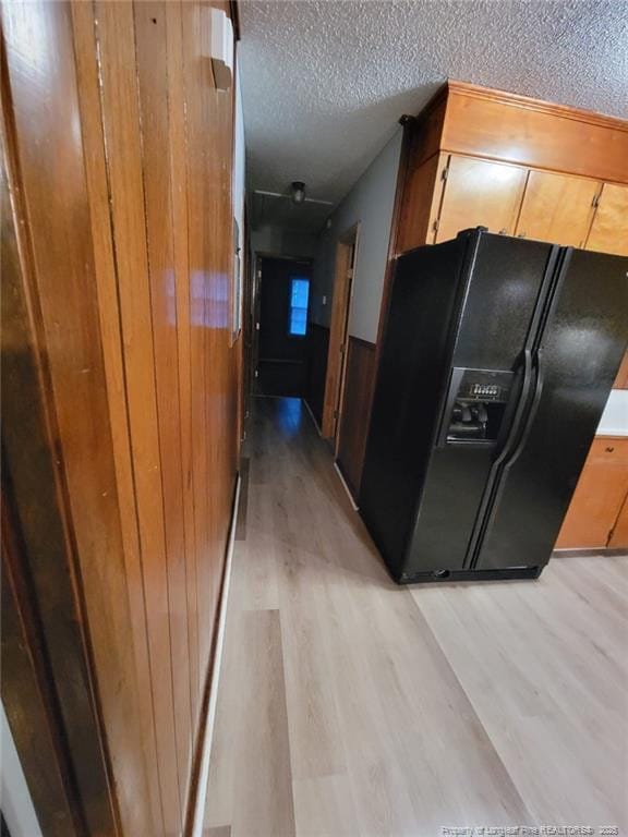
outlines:
[{"label": "flat black side of the refrigerator facing the hallway", "polygon": [[447,384],[467,252],[459,238],[396,266],[360,493],[360,513],[395,578]]}]

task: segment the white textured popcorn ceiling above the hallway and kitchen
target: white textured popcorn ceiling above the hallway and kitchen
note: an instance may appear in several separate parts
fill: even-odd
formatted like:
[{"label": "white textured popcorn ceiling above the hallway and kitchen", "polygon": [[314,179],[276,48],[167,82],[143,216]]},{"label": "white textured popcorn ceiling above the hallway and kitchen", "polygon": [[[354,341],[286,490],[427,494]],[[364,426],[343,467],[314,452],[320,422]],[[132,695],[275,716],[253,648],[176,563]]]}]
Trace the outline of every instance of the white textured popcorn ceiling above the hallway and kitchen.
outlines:
[{"label": "white textured popcorn ceiling above the hallway and kitchen", "polygon": [[340,199],[447,77],[628,117],[628,0],[241,0],[249,187]]}]

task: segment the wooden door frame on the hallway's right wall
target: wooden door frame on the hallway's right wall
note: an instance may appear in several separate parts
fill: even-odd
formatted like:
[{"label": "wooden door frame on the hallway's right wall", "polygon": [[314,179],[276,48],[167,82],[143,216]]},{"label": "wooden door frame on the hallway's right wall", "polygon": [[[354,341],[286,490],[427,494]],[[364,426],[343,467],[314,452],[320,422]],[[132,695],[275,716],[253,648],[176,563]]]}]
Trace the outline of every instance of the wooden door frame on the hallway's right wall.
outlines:
[{"label": "wooden door frame on the hallway's right wall", "polygon": [[336,243],[336,267],[334,271],[334,296],[329,349],[325,374],[325,398],[323,401],[322,435],[334,440],[334,456],[338,454],[338,439],[342,421],[347,355],[349,349],[349,316],[353,298],[353,280],[360,241],[360,221],[345,230]]}]

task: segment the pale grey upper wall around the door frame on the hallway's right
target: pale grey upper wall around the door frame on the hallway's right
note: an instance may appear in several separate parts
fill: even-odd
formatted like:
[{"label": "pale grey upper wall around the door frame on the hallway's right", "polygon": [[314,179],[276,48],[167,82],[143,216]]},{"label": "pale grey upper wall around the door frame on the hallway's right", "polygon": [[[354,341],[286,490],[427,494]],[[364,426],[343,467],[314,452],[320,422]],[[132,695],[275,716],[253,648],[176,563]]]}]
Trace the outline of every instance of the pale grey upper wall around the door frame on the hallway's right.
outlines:
[{"label": "pale grey upper wall around the door frame on the hallway's right", "polygon": [[349,333],[372,343],[377,339],[401,137],[399,129],[334,210],[331,227],[318,239],[314,263],[311,316],[314,323],[329,326],[336,244],[343,232],[360,222]]}]

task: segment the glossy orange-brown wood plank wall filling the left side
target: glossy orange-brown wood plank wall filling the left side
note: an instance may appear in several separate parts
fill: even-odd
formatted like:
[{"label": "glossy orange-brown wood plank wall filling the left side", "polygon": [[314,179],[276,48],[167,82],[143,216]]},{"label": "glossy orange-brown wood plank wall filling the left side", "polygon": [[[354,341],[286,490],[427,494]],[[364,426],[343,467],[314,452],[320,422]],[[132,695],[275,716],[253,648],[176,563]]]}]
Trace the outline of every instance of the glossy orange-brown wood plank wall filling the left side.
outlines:
[{"label": "glossy orange-brown wood plank wall filling the left side", "polygon": [[[89,834],[183,833],[212,675],[241,369],[233,95],[214,84],[213,4],[229,12],[2,7],[4,156],[51,416],[50,514],[75,573],[108,783],[110,822]],[[28,513],[25,502],[19,526]],[[59,571],[49,543],[25,544],[21,567],[46,568],[49,583]]]}]

